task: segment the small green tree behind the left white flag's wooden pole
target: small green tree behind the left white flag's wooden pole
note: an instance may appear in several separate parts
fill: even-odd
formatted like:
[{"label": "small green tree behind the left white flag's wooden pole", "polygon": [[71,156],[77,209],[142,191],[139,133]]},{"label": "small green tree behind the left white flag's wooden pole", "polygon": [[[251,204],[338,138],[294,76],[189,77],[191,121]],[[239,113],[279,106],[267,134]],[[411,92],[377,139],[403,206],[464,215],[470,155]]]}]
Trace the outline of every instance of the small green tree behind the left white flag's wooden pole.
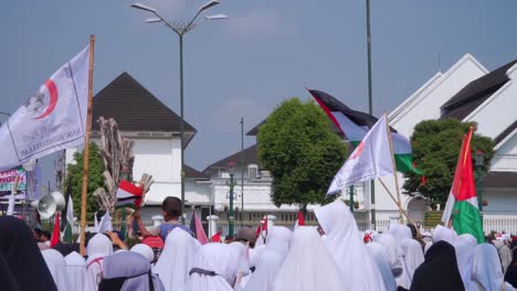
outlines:
[{"label": "small green tree behind the left white flag's wooden pole", "polygon": [[[84,153],[76,152],[74,154],[75,164],[67,165],[67,177],[65,180],[65,188],[68,186],[68,179],[72,183],[72,196],[74,198],[74,215],[81,218],[81,193],[83,191],[83,162]],[[95,212],[98,212],[98,204],[93,196],[93,192],[99,187],[104,187],[104,162],[101,157],[97,144],[89,143],[88,159],[88,186],[86,196],[86,219],[93,220]]]}]

